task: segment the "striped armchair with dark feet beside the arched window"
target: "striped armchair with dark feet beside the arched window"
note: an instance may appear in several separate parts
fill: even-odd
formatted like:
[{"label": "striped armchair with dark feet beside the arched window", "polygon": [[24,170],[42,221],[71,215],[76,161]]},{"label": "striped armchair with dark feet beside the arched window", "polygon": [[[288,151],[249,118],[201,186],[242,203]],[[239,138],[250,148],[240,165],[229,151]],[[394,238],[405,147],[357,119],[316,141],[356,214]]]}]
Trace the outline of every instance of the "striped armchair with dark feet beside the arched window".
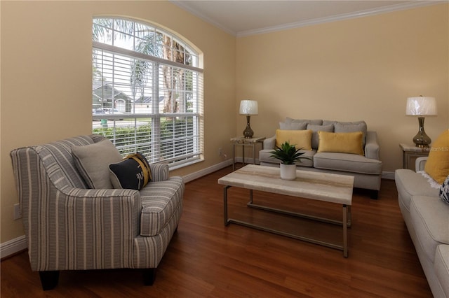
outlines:
[{"label": "striped armchair with dark feet beside the arched window", "polygon": [[151,164],[142,190],[88,189],[72,157],[73,146],[102,136],[76,136],[11,152],[29,262],[43,290],[61,270],[144,269],[145,285],[177,229],[184,183],[166,164]]}]

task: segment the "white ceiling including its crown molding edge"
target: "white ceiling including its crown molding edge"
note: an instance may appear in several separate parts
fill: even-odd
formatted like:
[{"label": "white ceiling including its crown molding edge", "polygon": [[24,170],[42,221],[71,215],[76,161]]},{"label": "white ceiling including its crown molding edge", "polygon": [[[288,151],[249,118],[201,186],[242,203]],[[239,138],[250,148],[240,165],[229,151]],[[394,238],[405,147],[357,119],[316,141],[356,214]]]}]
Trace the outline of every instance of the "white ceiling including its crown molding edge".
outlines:
[{"label": "white ceiling including its crown molding edge", "polygon": [[180,8],[235,36],[333,22],[447,1],[171,0]]}]

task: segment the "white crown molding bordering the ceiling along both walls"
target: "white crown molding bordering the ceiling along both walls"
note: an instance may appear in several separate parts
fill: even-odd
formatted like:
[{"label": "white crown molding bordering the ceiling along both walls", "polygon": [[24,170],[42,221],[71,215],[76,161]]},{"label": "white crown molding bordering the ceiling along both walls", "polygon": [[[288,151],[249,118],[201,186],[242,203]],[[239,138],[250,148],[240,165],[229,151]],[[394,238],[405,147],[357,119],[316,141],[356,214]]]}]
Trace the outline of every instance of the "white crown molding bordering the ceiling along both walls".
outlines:
[{"label": "white crown molding bordering the ceiling along both walls", "polygon": [[293,28],[299,28],[299,27],[307,27],[312,26],[315,24],[323,24],[326,22],[337,22],[340,20],[349,20],[354,19],[356,17],[367,17],[369,15],[378,15],[381,13],[391,13],[397,10],[406,10],[410,8],[418,8],[422,6],[431,6],[435,4],[441,4],[441,3],[449,3],[449,0],[417,0],[413,2],[408,3],[401,3],[401,4],[395,4],[391,6],[384,6],[380,8],[372,8],[368,10],[359,10],[353,13],[344,13],[341,15],[333,15],[330,17],[319,17],[312,20],[306,20],[301,22],[293,22],[288,24],[281,24],[279,26],[273,26],[273,27],[265,27],[265,28],[259,28],[259,29],[252,29],[252,30],[246,30],[246,31],[233,31],[224,25],[216,22],[215,20],[211,19],[210,17],[203,15],[199,13],[198,11],[194,10],[193,8],[190,8],[185,3],[188,3],[188,1],[183,0],[169,0],[171,3],[175,4],[176,6],[182,8],[183,10],[186,10],[189,13],[192,13],[192,15],[196,15],[196,17],[199,17],[201,20],[204,20],[210,24],[213,24],[213,26],[222,29],[223,31],[232,34],[236,37],[244,37],[244,36],[251,36],[256,34],[265,34],[270,33],[274,31],[282,31],[286,29],[293,29]]}]

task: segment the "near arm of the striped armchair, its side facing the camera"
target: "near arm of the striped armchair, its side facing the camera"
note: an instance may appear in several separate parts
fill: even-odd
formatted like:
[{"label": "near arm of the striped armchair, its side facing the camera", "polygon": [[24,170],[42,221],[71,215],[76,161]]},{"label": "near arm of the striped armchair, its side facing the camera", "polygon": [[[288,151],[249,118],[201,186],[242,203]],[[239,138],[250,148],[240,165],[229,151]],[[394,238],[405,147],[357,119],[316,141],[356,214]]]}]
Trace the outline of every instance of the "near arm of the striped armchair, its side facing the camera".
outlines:
[{"label": "near arm of the striped armchair, its side facing the camera", "polygon": [[142,210],[137,190],[51,185],[48,197],[22,201],[22,206],[33,271],[133,267]]}]

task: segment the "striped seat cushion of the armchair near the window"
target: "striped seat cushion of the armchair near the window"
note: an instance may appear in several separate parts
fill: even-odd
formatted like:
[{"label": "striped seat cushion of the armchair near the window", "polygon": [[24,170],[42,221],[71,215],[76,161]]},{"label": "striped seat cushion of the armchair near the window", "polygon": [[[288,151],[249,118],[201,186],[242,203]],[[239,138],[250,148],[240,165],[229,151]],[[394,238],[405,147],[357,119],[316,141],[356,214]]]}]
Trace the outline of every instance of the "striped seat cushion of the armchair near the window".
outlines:
[{"label": "striped seat cushion of the armchair near the window", "polygon": [[184,183],[179,176],[166,181],[150,182],[140,190],[142,214],[140,215],[140,235],[154,236],[175,214],[182,204]]}]

